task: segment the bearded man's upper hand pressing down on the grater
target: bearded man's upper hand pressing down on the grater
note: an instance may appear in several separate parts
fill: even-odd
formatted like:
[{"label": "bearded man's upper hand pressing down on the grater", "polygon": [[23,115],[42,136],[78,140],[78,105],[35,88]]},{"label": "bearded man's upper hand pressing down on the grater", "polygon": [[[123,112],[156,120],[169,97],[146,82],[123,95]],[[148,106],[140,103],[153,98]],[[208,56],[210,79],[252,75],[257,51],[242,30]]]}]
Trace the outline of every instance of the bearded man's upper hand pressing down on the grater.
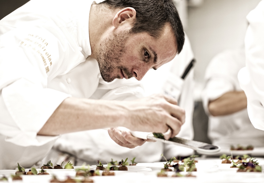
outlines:
[{"label": "bearded man's upper hand pressing down on the grater", "polygon": [[132,131],[171,133],[165,139],[175,137],[185,122],[185,110],[177,105],[177,100],[162,94],[134,101],[125,101],[128,121],[124,127]]}]

